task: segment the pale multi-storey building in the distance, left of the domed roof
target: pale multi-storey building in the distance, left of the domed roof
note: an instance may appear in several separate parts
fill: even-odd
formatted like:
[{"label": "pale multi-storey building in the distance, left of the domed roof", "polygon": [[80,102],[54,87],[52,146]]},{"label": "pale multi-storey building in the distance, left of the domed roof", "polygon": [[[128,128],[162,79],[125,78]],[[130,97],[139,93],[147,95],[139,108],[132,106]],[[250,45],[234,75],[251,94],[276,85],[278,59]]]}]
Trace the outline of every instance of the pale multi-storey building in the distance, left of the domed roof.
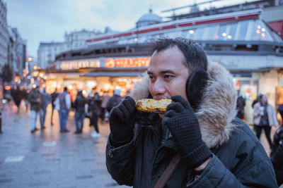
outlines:
[{"label": "pale multi-storey building in the distance, left of the domed roof", "polygon": [[96,37],[99,33],[88,30],[74,31],[69,34],[66,32],[64,42],[40,42],[37,50],[38,66],[48,68],[50,63],[55,61],[55,57],[63,51],[86,48],[86,40]]}]

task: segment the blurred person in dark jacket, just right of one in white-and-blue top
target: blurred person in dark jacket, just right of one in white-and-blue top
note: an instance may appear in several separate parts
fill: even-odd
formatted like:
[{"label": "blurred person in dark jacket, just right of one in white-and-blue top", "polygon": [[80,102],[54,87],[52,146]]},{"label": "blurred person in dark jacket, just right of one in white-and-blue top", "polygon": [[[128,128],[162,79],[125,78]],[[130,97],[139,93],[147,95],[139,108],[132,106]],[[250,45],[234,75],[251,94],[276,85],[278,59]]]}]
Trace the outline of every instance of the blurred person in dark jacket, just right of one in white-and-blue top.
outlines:
[{"label": "blurred person in dark jacket, just right of one in white-and-blue top", "polygon": [[75,134],[81,134],[83,130],[85,105],[86,105],[86,98],[83,96],[83,92],[81,91],[81,89],[78,89],[78,94],[76,94],[76,100],[74,101],[75,123],[76,123],[76,132],[74,132]]}]

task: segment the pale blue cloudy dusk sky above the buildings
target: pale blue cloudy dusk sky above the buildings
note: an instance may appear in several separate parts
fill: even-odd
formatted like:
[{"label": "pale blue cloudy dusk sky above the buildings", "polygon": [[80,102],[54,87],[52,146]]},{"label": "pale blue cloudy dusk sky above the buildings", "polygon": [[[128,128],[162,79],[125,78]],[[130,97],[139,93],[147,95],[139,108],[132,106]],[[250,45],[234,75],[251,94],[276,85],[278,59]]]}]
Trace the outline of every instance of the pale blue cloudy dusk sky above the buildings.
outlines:
[{"label": "pale blue cloudy dusk sky above the buildings", "polygon": [[[104,31],[107,26],[112,30],[126,31],[135,27],[137,20],[141,15],[148,13],[150,7],[157,15],[166,17],[168,13],[161,11],[203,1],[205,0],[6,0],[5,2],[8,8],[8,25],[18,28],[21,37],[28,42],[28,55],[36,58],[40,42],[63,42],[65,32],[82,29]],[[211,3],[211,6],[243,1],[216,1]],[[202,8],[208,7],[202,6]],[[186,8],[183,12],[188,10]]]}]

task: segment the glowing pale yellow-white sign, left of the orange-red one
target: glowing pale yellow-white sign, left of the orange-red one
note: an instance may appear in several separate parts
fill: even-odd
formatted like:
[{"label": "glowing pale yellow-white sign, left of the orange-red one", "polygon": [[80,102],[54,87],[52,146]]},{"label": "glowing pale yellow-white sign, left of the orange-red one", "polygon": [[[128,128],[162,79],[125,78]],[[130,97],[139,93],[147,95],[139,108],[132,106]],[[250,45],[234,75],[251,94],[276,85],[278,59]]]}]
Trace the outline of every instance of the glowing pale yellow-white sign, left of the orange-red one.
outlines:
[{"label": "glowing pale yellow-white sign, left of the orange-red one", "polygon": [[99,68],[100,61],[63,61],[60,64],[62,70],[79,69],[79,68]]}]

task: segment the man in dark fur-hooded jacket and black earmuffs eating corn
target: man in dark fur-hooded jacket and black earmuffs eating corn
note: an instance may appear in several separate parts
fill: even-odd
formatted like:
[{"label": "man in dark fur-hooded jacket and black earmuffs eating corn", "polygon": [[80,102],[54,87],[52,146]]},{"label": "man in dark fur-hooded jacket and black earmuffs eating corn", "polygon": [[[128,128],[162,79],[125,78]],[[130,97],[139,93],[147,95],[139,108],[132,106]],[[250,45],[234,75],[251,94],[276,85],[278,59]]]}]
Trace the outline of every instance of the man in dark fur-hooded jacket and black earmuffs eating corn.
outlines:
[{"label": "man in dark fur-hooded jacket and black earmuffs eating corn", "polygon": [[[110,112],[106,165],[112,178],[154,187],[178,153],[166,187],[277,187],[270,158],[235,118],[237,94],[229,72],[208,64],[202,47],[186,39],[152,46],[149,81]],[[134,99],[147,97],[174,102],[164,114],[137,111]]]}]

